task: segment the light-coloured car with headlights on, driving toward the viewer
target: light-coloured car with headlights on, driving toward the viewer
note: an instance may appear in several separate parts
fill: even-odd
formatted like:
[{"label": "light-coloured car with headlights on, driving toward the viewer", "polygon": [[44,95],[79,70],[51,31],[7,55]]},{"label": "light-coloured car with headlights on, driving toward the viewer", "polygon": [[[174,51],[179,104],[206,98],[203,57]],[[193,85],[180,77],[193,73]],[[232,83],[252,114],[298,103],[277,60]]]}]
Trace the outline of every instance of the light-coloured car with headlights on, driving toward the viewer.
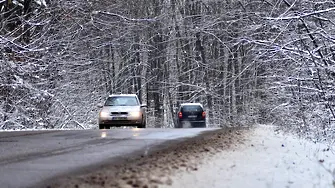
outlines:
[{"label": "light-coloured car with headlights on, driving toward the viewer", "polygon": [[110,127],[146,127],[147,105],[141,104],[136,94],[110,95],[104,105],[99,105],[99,129]]}]

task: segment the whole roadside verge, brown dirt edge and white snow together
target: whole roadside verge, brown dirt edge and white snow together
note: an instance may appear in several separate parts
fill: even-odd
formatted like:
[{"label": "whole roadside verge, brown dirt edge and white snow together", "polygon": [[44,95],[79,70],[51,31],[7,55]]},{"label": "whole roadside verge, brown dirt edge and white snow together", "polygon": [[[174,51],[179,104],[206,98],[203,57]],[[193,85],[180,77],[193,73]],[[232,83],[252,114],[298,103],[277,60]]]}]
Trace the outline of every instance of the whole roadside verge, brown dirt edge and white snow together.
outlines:
[{"label": "whole roadside verge, brown dirt edge and white snow together", "polygon": [[276,129],[221,129],[51,188],[334,188],[334,146]]}]

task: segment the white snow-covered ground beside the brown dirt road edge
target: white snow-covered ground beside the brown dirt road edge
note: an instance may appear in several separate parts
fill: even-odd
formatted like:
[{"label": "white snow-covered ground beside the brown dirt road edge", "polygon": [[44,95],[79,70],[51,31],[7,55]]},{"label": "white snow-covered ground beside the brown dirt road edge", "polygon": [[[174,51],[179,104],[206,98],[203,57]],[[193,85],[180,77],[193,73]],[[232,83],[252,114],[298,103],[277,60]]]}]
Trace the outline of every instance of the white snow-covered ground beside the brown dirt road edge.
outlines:
[{"label": "white snow-covered ground beside the brown dirt road edge", "polygon": [[242,146],[208,156],[197,171],[179,171],[171,185],[194,188],[334,188],[335,146],[257,126]]}]

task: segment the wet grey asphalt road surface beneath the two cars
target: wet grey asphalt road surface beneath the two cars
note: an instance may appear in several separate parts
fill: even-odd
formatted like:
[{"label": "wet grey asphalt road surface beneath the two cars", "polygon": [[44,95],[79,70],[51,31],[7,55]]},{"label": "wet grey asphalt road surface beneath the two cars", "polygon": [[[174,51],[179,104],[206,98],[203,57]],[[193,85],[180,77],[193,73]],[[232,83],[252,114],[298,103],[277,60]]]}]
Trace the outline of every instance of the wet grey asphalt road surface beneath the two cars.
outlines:
[{"label": "wet grey asphalt road surface beneath the two cars", "polygon": [[63,174],[97,168],[168,140],[213,129],[110,129],[0,132],[0,185],[32,187]]}]

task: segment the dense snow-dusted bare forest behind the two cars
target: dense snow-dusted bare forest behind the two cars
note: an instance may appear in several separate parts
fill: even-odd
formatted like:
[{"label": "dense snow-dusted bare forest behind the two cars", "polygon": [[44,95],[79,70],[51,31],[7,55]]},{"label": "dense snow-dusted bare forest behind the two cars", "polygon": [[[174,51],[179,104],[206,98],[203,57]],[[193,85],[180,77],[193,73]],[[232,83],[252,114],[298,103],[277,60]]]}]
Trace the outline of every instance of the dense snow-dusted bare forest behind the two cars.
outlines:
[{"label": "dense snow-dusted bare forest behind the two cars", "polygon": [[335,2],[0,0],[0,129],[90,128],[111,93],[148,124],[182,102],[210,126],[335,135]]}]

